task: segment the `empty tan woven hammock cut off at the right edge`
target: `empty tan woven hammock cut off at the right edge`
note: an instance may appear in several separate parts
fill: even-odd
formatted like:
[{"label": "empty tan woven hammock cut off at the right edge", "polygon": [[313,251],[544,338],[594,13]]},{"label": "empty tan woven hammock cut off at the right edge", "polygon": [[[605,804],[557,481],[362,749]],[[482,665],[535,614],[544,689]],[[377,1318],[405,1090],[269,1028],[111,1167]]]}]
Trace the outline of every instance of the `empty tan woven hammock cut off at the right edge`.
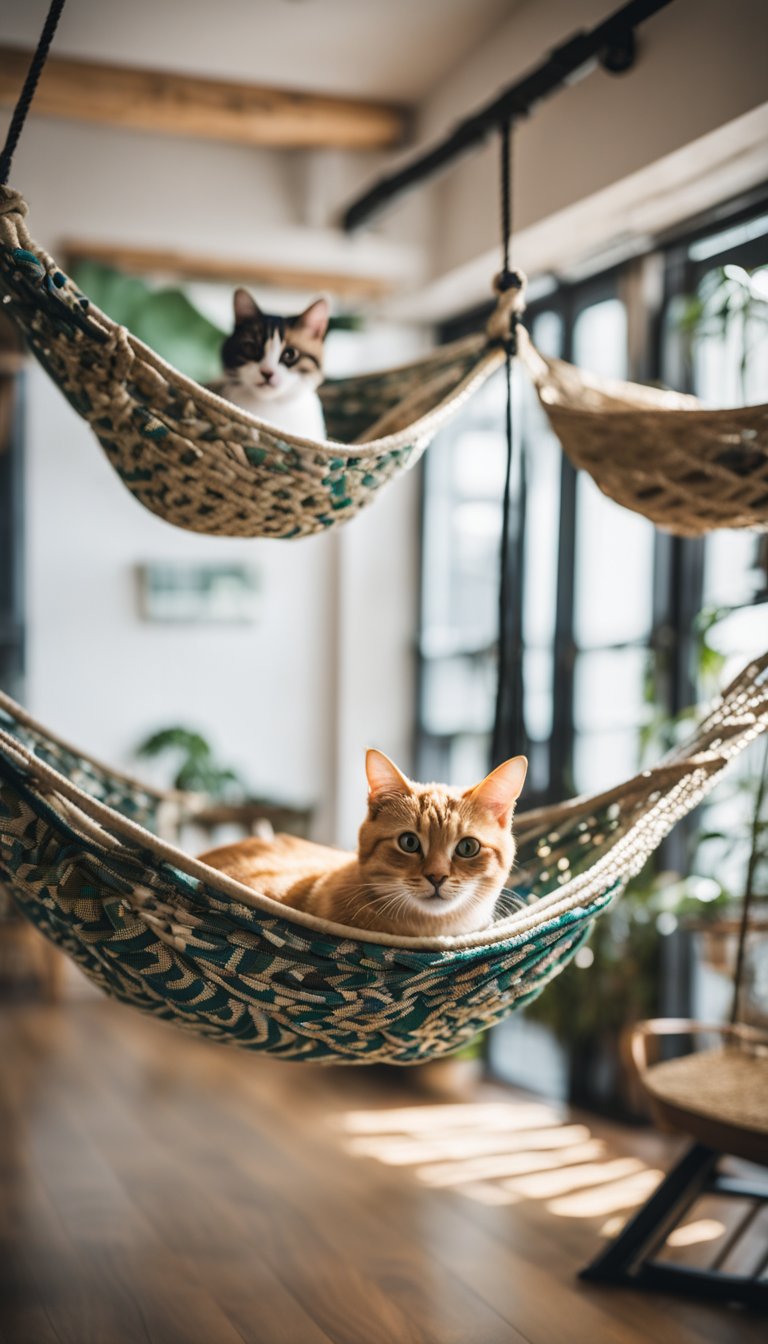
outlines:
[{"label": "empty tan woven hammock cut off at the right edge", "polygon": [[594,378],[545,359],[525,332],[518,352],[570,461],[609,499],[678,536],[768,528],[768,406],[703,410]]}]

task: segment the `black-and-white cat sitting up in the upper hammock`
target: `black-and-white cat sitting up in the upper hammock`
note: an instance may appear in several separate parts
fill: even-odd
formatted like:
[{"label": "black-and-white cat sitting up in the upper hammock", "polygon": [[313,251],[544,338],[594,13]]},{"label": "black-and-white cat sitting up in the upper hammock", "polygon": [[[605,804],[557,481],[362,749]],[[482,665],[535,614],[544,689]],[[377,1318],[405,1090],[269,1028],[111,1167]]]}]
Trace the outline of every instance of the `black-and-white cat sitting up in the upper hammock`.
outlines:
[{"label": "black-and-white cat sitting up in the upper hammock", "polygon": [[211,391],[300,438],[325,438],[317,387],[328,304],[316,298],[296,317],[262,313],[245,289],[234,293],[234,332],[222,345],[223,376]]}]

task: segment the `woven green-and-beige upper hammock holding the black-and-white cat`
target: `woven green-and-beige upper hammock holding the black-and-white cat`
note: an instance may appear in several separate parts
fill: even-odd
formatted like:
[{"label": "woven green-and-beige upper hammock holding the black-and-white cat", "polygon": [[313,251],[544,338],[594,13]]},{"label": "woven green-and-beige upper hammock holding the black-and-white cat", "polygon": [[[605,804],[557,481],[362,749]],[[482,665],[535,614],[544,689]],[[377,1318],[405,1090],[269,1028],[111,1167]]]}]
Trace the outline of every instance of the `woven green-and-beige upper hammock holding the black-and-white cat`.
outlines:
[{"label": "woven green-and-beige upper hammock holding the black-and-white cat", "polygon": [[[293,538],[354,517],[413,466],[504,359],[496,339],[504,321],[496,319],[494,337],[330,382],[321,396],[331,439],[296,438],[184,378],[101,313],[32,242],[26,214],[22,196],[0,187],[5,312],[122,484],[176,527]],[[500,312],[504,305],[507,298]]]}]

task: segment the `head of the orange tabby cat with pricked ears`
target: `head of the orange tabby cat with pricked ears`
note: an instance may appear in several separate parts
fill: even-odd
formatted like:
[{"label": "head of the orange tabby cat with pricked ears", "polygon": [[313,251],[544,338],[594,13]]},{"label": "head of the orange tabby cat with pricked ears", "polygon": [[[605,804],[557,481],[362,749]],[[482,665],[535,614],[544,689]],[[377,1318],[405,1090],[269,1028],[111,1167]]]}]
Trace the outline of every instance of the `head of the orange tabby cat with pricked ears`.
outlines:
[{"label": "head of the orange tabby cat with pricked ears", "polygon": [[460,790],[414,784],[369,751],[358,921],[417,937],[487,927],[515,857],[511,821],[526,770],[514,757]]}]

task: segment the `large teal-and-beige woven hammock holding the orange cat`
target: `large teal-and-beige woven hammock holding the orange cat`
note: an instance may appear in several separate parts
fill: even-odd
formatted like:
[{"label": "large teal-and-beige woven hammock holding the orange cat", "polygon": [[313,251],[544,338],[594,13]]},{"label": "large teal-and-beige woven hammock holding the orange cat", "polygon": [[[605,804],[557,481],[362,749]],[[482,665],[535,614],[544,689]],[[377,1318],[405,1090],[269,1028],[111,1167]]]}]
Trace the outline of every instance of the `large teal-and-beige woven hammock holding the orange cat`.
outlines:
[{"label": "large teal-and-beige woven hammock holding the orange cat", "polygon": [[147,789],[0,698],[0,879],[102,989],[200,1035],[286,1058],[418,1063],[527,1003],[574,956],[725,765],[768,727],[768,653],[662,765],[523,813],[514,913],[463,937],[328,923],[157,839]]}]

